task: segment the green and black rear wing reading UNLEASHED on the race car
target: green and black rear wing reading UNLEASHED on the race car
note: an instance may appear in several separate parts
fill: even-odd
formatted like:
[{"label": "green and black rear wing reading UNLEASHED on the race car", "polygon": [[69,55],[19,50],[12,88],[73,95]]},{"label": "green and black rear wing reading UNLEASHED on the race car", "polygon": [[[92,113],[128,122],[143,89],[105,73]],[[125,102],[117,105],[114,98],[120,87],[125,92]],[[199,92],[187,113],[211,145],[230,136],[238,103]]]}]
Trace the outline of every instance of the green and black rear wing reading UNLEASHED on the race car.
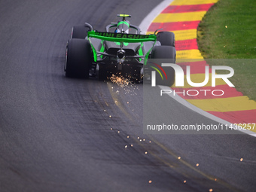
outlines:
[{"label": "green and black rear wing reading UNLEASHED on the race car", "polygon": [[[126,33],[114,33],[114,32],[95,32],[95,31],[90,31],[87,32],[87,37],[90,41],[90,38],[99,38],[103,41],[114,41],[114,42],[126,42],[126,43],[141,43],[145,41],[154,41],[154,44],[157,41],[157,36],[156,35],[141,35],[141,34],[126,34]],[[92,45],[93,48],[93,56],[94,56],[94,61],[97,60],[97,51],[93,47],[93,44],[90,41],[90,44]],[[151,49],[154,47],[151,47]],[[148,50],[148,53],[145,54],[145,60],[147,60],[149,53],[151,52],[151,49]]]}]

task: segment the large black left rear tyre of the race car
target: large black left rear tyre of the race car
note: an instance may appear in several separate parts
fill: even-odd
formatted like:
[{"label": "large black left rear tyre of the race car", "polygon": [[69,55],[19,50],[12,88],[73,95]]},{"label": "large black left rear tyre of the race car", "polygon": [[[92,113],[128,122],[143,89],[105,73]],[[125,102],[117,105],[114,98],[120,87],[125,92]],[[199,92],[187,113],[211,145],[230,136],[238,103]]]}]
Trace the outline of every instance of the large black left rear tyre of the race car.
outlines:
[{"label": "large black left rear tyre of the race car", "polygon": [[90,42],[83,39],[70,39],[66,47],[66,76],[71,78],[89,78],[91,63]]}]

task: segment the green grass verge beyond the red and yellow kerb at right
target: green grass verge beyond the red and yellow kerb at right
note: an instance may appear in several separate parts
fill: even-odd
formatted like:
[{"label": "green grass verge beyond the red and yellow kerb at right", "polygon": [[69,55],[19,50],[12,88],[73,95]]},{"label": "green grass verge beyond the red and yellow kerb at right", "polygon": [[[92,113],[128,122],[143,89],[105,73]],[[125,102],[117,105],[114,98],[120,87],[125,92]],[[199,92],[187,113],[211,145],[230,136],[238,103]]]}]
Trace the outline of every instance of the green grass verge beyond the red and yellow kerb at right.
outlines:
[{"label": "green grass verge beyond the red and yellow kerb at right", "polygon": [[230,81],[236,89],[256,100],[255,0],[220,0],[200,23],[197,41],[206,59],[254,59],[224,66],[233,67],[235,76]]}]

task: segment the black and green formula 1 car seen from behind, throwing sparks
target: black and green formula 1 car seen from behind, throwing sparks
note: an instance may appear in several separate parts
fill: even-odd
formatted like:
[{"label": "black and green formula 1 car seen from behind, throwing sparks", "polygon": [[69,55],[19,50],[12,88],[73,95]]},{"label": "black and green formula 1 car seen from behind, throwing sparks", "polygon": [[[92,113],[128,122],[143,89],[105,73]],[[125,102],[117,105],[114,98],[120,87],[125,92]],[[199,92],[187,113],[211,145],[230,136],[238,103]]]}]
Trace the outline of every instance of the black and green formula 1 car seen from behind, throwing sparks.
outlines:
[{"label": "black and green formula 1 car seen from behind, throwing sparks", "polygon": [[[156,30],[153,35],[142,35],[138,26],[126,20],[130,15],[118,14],[117,17],[122,20],[106,26],[105,32],[94,30],[89,23],[72,28],[66,46],[64,69],[67,77],[95,76],[106,80],[111,75],[122,75],[139,83],[143,80],[143,66],[148,58],[175,60],[173,32]],[[174,71],[169,71],[172,78],[167,85],[174,81]]]}]

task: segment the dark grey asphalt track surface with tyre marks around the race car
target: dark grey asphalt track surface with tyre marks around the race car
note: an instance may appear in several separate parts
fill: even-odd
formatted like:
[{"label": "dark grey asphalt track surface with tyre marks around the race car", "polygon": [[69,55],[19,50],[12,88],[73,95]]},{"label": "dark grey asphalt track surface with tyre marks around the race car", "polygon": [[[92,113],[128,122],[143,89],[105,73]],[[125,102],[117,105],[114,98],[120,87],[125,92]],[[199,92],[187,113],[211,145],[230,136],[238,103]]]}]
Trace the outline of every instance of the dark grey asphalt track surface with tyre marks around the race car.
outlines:
[{"label": "dark grey asphalt track surface with tyre marks around the race car", "polygon": [[[142,84],[65,78],[72,26],[139,25],[158,3],[0,1],[0,191],[255,190],[254,137],[143,135]],[[214,123],[172,98],[161,110]]]}]

